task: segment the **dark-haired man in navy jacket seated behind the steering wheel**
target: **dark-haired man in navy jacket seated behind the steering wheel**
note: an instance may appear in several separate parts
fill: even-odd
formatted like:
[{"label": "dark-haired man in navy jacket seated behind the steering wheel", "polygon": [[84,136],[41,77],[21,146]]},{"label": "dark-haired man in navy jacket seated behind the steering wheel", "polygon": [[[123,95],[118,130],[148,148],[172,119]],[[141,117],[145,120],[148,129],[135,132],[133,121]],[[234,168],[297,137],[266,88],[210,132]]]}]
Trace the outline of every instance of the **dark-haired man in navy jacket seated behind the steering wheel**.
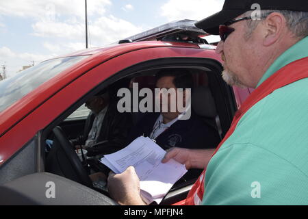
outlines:
[{"label": "dark-haired man in navy jacket seated behind the steering wheel", "polygon": [[[192,88],[192,75],[184,68],[166,68],[162,69],[156,75],[157,88]],[[160,99],[160,108],[162,109],[162,98]],[[172,98],[172,97],[171,97]],[[202,101],[202,100],[200,100]],[[181,147],[188,149],[214,149],[220,142],[218,131],[204,123],[194,112],[191,113],[189,119],[179,119],[181,112],[171,112],[170,103],[172,100],[168,98],[168,112],[147,113],[139,123],[131,129],[128,143],[132,142],[139,136],[149,137],[167,150],[172,147]],[[185,103],[185,95],[183,95]],[[177,100],[176,100],[177,103]],[[190,105],[187,106],[186,110]]]}]

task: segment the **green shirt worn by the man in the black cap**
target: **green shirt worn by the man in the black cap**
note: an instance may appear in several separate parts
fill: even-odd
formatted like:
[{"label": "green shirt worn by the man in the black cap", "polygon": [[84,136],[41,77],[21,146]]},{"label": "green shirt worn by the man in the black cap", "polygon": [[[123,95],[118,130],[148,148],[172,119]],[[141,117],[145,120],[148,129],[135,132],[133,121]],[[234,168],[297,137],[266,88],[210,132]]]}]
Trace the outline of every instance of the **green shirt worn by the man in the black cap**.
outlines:
[{"label": "green shirt worn by the man in the black cap", "polygon": [[[308,57],[308,37],[285,51],[258,86]],[[308,205],[308,78],[251,107],[212,157],[203,205]]]}]

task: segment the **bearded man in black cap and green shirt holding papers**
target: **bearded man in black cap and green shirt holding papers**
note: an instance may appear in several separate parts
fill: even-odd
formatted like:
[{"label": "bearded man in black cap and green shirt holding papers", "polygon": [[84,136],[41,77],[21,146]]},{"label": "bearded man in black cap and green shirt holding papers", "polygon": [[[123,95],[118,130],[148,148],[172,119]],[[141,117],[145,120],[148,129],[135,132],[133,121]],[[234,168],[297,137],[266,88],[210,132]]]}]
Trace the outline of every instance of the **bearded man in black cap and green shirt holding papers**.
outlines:
[{"label": "bearded man in black cap and green shirt holding papers", "polygon": [[[256,90],[213,157],[207,150],[166,154],[163,162],[206,168],[186,204],[308,205],[307,11],[307,0],[226,0],[221,12],[196,23],[222,38],[216,52],[224,80]],[[132,168],[109,181],[116,201],[142,204]]]}]

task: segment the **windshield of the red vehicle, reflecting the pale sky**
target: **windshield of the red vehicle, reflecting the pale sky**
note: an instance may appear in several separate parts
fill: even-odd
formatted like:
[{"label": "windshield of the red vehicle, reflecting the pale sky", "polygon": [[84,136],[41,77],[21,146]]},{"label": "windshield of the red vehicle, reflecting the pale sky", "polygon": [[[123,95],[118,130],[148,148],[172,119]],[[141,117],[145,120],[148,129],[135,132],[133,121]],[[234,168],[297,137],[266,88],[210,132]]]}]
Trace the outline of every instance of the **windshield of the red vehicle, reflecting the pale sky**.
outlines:
[{"label": "windshield of the red vehicle, reflecting the pale sky", "polygon": [[13,77],[0,81],[0,112],[16,103],[23,96],[38,88],[66,68],[88,57],[88,55],[62,57],[41,62]]}]

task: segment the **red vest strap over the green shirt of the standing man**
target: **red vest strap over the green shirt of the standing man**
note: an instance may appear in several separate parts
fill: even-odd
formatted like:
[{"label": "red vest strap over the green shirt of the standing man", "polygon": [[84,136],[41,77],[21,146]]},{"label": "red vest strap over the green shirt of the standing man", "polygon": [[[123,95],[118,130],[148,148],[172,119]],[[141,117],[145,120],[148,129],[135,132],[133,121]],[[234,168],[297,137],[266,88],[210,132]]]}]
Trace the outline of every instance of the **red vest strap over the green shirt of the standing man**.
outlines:
[{"label": "red vest strap over the green shirt of the standing man", "polygon": [[[229,131],[226,133],[224,139],[220,142],[216,151],[211,157],[216,154],[216,152],[220,149],[220,146],[222,146],[222,144],[232,135],[242,116],[249,109],[251,109],[253,105],[261,101],[261,99],[264,99],[264,97],[268,96],[268,94],[271,94],[274,90],[307,77],[308,57],[305,57],[303,59],[296,60],[295,62],[287,64],[287,66],[284,66],[278,70],[277,73],[274,73],[274,75],[266,79],[264,83],[261,83],[261,85],[256,90],[254,90],[251,95],[248,96],[246,101],[244,101],[238,112],[235,113]],[[203,170],[201,176],[198,178],[196,183],[194,183],[194,186],[186,198],[185,205],[198,205],[201,203],[204,194],[204,181],[205,170]]]}]

